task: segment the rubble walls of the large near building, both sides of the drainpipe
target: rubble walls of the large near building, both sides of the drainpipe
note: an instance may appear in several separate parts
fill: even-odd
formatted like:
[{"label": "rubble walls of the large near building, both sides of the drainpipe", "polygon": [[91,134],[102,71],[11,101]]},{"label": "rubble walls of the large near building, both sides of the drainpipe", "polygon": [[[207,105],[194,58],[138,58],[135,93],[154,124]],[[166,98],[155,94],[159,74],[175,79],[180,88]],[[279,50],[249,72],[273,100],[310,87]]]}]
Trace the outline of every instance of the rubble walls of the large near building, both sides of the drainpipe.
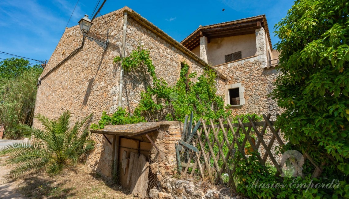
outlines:
[{"label": "rubble walls of the large near building, both sides of the drainpipe", "polygon": [[[104,15],[104,19],[109,26],[110,43],[107,50],[104,51],[95,41],[85,38],[80,51],[42,80],[37,91],[35,114],[42,113],[49,118],[58,118],[62,112],[70,110],[72,121],[75,122],[93,113],[90,122],[96,123],[102,111],[116,110],[120,69],[119,64],[113,63],[113,58],[121,54],[123,14],[116,11]],[[98,17],[93,22],[88,35],[106,40],[107,27],[104,20]],[[158,77],[165,79],[170,85],[174,85],[179,78],[181,61],[190,65],[190,71],[202,74],[201,64],[130,16],[127,20],[126,36],[126,56],[139,44],[143,45],[150,50]],[[66,29],[42,77],[79,48],[82,40],[78,26]],[[150,81],[145,71],[125,73],[122,107],[132,112],[139,103],[141,91],[144,91]],[[223,89],[222,85],[218,88]],[[34,126],[39,127],[37,120],[34,121]],[[102,175],[110,176],[111,146],[102,135],[94,134],[92,137],[96,148],[90,154],[88,164]],[[112,136],[107,137],[112,141]]]}]

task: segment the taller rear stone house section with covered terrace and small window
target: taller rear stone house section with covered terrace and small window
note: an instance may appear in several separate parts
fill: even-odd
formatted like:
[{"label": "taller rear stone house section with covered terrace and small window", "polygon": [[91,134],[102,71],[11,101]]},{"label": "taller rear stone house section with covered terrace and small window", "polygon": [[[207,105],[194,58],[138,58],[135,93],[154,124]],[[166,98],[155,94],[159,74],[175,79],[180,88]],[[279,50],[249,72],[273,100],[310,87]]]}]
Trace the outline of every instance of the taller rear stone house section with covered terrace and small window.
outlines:
[{"label": "taller rear stone house section with covered terrace and small window", "polygon": [[200,25],[181,44],[227,76],[223,95],[233,114],[280,113],[267,97],[280,53],[272,48],[265,15]]}]

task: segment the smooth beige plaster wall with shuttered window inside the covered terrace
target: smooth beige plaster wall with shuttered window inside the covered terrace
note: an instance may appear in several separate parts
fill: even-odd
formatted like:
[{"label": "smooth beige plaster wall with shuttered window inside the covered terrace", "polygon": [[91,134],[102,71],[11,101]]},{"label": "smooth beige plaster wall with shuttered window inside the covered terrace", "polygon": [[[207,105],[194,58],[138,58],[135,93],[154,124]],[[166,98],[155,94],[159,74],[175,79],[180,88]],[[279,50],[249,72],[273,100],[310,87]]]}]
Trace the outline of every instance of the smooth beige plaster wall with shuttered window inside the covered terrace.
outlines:
[{"label": "smooth beige plaster wall with shuttered window inside the covered terrace", "polygon": [[[256,53],[255,34],[213,38],[209,41],[207,59],[212,66],[224,64],[224,56],[227,54],[241,51],[241,57],[246,58],[255,56]],[[193,49],[192,52],[200,56],[200,46]]]}]

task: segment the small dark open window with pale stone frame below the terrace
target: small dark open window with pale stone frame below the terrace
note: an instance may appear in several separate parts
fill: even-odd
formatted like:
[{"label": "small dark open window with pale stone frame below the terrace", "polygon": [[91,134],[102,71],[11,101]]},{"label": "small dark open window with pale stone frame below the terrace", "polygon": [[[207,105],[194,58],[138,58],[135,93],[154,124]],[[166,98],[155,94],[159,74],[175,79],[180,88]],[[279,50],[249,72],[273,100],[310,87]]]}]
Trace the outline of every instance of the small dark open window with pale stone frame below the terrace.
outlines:
[{"label": "small dark open window with pale stone frame below the terrace", "polygon": [[245,88],[241,83],[229,84],[225,86],[225,104],[232,107],[240,107],[245,104]]}]

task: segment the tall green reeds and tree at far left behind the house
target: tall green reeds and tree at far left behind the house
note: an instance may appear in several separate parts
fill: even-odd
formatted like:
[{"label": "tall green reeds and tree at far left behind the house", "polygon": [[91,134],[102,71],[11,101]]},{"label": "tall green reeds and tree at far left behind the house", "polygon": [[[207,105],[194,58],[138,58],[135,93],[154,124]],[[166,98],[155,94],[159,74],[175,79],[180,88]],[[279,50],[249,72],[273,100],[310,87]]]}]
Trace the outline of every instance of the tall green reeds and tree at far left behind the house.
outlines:
[{"label": "tall green reeds and tree at far left behind the house", "polygon": [[33,120],[36,81],[43,69],[28,64],[28,60],[17,58],[0,62],[0,124],[5,126],[7,138],[21,137],[16,125],[31,124]]}]

